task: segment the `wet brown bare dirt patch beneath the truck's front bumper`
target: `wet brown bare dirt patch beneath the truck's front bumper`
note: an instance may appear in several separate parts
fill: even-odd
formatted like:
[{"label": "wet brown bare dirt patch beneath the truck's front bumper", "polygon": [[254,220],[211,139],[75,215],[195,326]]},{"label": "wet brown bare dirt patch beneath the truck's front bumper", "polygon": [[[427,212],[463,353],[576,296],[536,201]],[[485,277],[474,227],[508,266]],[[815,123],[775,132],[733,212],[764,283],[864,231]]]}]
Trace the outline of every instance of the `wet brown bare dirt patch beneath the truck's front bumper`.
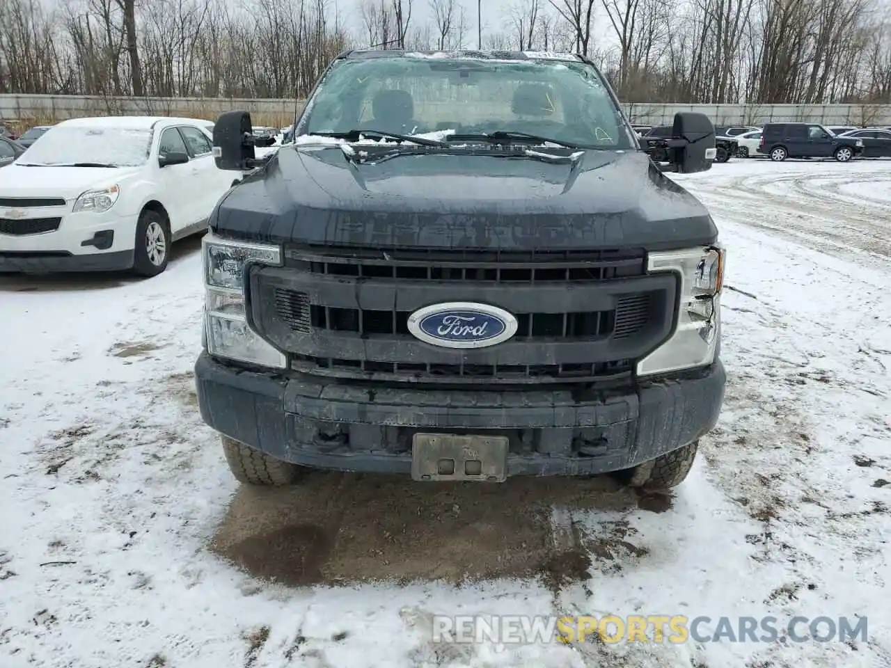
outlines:
[{"label": "wet brown bare dirt patch beneath the truck's front bumper", "polygon": [[249,574],[291,586],[347,582],[585,580],[591,558],[555,542],[552,506],[629,510],[609,477],[423,484],[311,471],[284,489],[241,485],[211,542]]}]

